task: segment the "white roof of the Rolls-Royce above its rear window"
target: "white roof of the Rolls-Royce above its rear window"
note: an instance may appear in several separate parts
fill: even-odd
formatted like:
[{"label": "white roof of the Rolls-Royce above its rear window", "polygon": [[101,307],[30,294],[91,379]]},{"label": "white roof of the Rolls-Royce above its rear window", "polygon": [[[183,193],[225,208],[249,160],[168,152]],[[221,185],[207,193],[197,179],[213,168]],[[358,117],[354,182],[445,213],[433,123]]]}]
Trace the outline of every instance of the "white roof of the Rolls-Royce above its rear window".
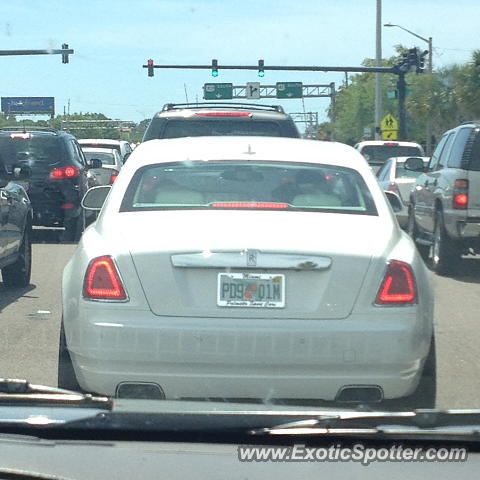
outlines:
[{"label": "white roof of the Rolls-Royce above its rear window", "polygon": [[[160,154],[161,153],[161,154]],[[269,160],[338,165],[369,171],[354,148],[336,142],[286,137],[182,137],[149,140],[132,153],[136,167],[184,160]],[[128,164],[127,164],[128,165]]]}]

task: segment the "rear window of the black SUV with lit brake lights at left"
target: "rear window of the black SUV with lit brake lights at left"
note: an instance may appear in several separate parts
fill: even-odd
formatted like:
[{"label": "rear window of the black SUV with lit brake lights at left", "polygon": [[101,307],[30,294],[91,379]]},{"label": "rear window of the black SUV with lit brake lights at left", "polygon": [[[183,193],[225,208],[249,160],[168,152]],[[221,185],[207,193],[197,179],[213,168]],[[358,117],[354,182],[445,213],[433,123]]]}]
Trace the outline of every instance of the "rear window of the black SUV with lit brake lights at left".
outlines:
[{"label": "rear window of the black SUV with lit brake lights at left", "polygon": [[63,144],[50,136],[0,136],[0,160],[5,165],[27,165],[34,173],[47,171],[63,164]]}]

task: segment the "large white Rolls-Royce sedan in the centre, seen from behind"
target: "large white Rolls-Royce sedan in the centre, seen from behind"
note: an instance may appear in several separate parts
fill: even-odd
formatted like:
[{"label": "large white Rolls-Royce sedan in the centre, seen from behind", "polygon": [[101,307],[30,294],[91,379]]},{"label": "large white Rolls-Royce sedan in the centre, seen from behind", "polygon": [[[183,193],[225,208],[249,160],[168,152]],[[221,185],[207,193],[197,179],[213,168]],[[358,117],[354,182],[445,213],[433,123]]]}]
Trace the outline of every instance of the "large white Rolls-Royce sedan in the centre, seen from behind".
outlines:
[{"label": "large white Rolls-Royce sedan in the centre, seen from behind", "polygon": [[64,270],[60,386],[420,406],[430,277],[358,152],[197,137],[132,160],[84,198],[110,191]]}]

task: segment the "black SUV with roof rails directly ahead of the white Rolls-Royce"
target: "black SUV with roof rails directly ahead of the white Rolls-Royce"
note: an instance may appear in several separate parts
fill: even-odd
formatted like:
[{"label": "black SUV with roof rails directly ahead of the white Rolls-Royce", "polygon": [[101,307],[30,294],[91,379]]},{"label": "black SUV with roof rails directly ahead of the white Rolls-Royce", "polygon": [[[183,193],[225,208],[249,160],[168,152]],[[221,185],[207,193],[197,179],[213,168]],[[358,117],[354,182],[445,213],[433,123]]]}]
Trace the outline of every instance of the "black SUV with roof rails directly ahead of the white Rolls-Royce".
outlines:
[{"label": "black SUV with roof rails directly ahead of the white Rolls-Royce", "polygon": [[143,141],[156,138],[259,135],[300,138],[283,108],[243,103],[167,103],[150,122]]}]

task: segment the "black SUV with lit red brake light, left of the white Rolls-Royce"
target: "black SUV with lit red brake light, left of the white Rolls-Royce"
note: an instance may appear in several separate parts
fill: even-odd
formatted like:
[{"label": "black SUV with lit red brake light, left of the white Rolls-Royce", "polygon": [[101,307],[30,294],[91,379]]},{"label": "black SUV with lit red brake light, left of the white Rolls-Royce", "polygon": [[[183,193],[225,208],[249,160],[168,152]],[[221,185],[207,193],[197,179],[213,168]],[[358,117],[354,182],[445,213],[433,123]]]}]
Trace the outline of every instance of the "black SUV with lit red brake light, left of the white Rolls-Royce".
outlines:
[{"label": "black SUV with lit red brake light, left of the white Rolls-Royce", "polygon": [[65,227],[64,240],[77,240],[85,217],[80,206],[88,190],[88,164],[75,137],[69,133],[28,127],[0,129],[0,158],[11,165],[28,166],[24,185],[33,206],[33,225]]}]

